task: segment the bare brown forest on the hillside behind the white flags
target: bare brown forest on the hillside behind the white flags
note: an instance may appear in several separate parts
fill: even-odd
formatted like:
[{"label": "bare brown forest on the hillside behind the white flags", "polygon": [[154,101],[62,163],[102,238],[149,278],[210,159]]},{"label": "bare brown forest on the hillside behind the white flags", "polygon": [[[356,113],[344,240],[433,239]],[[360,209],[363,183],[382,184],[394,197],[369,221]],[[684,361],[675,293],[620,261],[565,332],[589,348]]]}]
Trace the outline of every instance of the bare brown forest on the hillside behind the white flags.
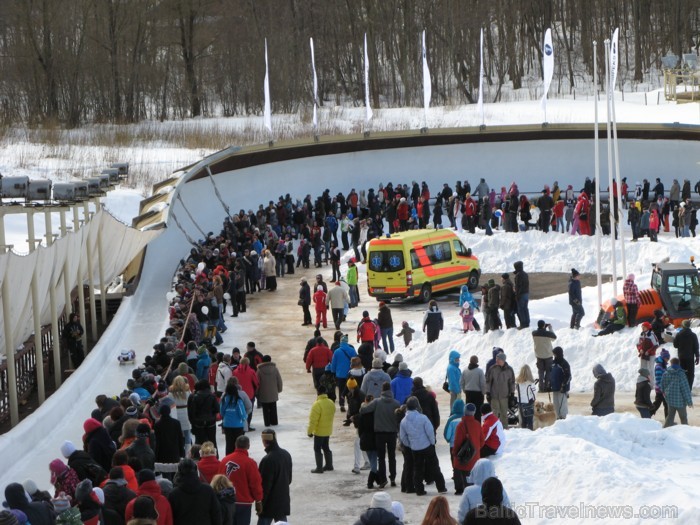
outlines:
[{"label": "bare brown forest on the hillside behind the white flags", "polygon": [[[426,30],[432,104],[478,97],[484,29],[487,102],[537,85],[552,29],[550,92],[589,84],[593,41],[620,28],[625,85],[660,58],[700,49],[699,0],[3,0],[0,123],[129,123],[262,111],[264,39],[273,112],[364,104],[367,33],[375,107],[421,105]],[[541,95],[541,92],[539,93]],[[535,94],[532,93],[534,97]]]}]

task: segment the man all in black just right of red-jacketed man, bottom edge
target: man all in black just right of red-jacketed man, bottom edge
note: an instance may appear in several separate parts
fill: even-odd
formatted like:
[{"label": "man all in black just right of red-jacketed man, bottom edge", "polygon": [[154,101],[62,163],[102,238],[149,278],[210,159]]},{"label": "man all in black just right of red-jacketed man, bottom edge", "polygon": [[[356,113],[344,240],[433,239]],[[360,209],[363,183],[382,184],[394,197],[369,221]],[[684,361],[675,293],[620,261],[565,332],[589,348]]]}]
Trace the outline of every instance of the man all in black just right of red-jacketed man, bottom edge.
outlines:
[{"label": "man all in black just right of red-jacketed man, bottom edge", "polygon": [[262,509],[256,508],[260,516],[258,523],[287,521],[291,513],[289,486],[292,484],[292,456],[279,446],[274,430],[266,428],[261,437],[265,457],[258,467],[263,485]]}]

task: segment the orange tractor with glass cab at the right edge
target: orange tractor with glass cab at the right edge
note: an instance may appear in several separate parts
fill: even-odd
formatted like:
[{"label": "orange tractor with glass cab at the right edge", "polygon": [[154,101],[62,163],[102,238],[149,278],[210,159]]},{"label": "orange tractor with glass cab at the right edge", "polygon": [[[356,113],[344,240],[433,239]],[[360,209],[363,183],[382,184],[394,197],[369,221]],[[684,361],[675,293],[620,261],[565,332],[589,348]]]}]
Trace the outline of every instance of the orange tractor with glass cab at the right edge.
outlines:
[{"label": "orange tractor with glass cab at the right edge", "polygon": [[[700,314],[700,272],[695,258],[690,263],[659,262],[652,266],[651,288],[640,290],[641,299],[637,312],[637,324],[654,319],[654,310],[663,310],[668,320],[678,327],[684,319]],[[624,295],[617,300],[625,306]],[[610,301],[600,307],[595,326],[600,328],[610,319],[614,308]]]}]

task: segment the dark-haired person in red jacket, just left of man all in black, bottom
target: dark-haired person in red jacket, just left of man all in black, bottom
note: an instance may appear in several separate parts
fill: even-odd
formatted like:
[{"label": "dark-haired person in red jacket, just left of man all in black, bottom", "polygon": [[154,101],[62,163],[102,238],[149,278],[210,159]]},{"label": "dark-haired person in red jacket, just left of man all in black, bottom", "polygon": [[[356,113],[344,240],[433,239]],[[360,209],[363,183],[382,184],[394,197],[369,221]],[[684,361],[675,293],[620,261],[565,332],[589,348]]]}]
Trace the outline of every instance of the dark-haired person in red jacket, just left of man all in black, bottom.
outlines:
[{"label": "dark-haired person in red jacket, just left of man all in black, bottom", "polygon": [[236,449],[221,460],[219,474],[226,476],[236,489],[236,524],[250,524],[252,507],[261,508],[263,497],[262,478],[258,464],[248,456],[250,439],[248,436],[236,438]]}]

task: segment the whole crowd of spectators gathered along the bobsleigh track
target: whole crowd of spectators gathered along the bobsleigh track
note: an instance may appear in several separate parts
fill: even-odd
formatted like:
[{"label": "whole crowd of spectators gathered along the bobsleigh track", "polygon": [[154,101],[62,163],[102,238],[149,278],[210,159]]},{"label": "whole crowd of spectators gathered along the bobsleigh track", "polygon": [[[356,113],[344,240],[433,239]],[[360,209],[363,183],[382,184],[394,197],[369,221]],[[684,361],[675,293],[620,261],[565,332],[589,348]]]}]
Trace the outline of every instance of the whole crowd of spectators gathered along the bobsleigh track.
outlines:
[{"label": "whole crowd of spectators gathered along the bobsleigh track", "polygon": [[[674,181],[669,197],[658,184],[657,179],[650,198],[647,181],[637,185],[633,196],[623,182],[623,206],[637,232],[634,238],[649,234],[654,240],[654,230],[667,226],[669,216],[677,236],[694,235],[689,183],[685,181],[677,192]],[[374,316],[365,309],[357,327],[341,328],[349,310],[361,304],[357,265],[364,262],[366,243],[372,238],[411,228],[438,228],[443,218],[445,226],[470,232],[479,227],[487,235],[496,228],[516,232],[532,227],[590,234],[595,228],[594,193],[588,179],[576,197],[572,186],[562,191],[555,182],[530,201],[515,183],[497,193],[481,179],[473,192],[464,181],[454,189],[444,184],[431,197],[425,182],[413,182],[359,193],[353,189],[347,196],[332,196],[325,190],[315,200],[310,195],[302,201],[280,196],[255,212],[241,210],[227,217],[218,235],[210,233],[181,261],[168,310],[170,327],[152,355],[134,369],[123,392],[96,398],[96,408],[83,424],[82,446],[66,441],[60,447],[62,458],[49,465],[53,493],[40,490],[32,480],[8,485],[7,510],[0,513],[0,523],[243,525],[251,523],[253,513],[259,525],[286,522],[291,512],[292,458],[272,429],[278,424],[282,374],[253,341],[243,352],[234,347],[224,353],[218,347],[228,329],[226,314],[232,318],[248,314],[247,296],[275,292],[277,279],[294,274],[300,266],[310,268],[312,253],[315,267],[330,265],[332,277],[326,283],[318,274],[313,284],[302,277],[299,288],[302,324],[315,326],[303,358],[316,392],[307,427],[316,461],[311,473],[336,468],[331,437],[337,404],[343,425],[356,434],[349,470],[354,475],[367,472],[367,488],[379,489],[357,523],[400,524],[401,503],[382,489],[400,486],[404,494],[423,496],[430,485],[438,496],[427,505],[426,525],[480,523],[493,517],[519,523],[508,508],[492,459],[503,453],[510,425],[517,421],[533,428],[538,394],[552,397],[557,419],[567,416],[571,368],[563,349],[553,345],[552,327],[539,321],[532,331],[536,379],[529,365],[516,376],[500,348],[494,348],[484,370],[477,356],[471,356],[462,370],[460,354],[449,355],[443,389],[450,395],[450,416],[442,437],[450,450],[455,494],[460,496],[457,520],[442,496],[448,489],[436,454],[441,426],[437,396],[422,378],[413,377],[395,347],[395,338],[404,347],[411,345],[414,329],[404,321],[394,333],[392,310],[383,302]],[[613,194],[617,195],[616,187]],[[614,207],[617,214],[616,202]],[[640,212],[638,218],[634,210]],[[603,211],[601,228],[609,233],[610,223],[606,231],[603,220],[609,213]],[[341,248],[354,255],[345,275],[340,271]],[[570,327],[576,329],[584,316],[578,278],[572,269]],[[504,273],[500,283],[489,280],[481,292],[477,303],[462,287],[459,315],[465,332],[486,333],[504,325],[529,328],[529,279],[521,261],[514,263],[512,278]],[[626,283],[626,299],[628,292],[634,296],[634,287]],[[627,302],[634,304],[633,299]],[[483,327],[474,317],[479,310]],[[329,321],[335,328],[331,344],[321,332]],[[620,322],[621,327],[634,326],[633,313]],[[64,339],[78,366],[83,356],[76,341],[82,327],[78,318],[72,317],[71,323]],[[439,338],[443,325],[442,312],[431,301],[422,323],[428,342]],[[679,357],[670,359],[659,344],[659,330],[665,326],[663,312],[654,323],[642,324],[635,406],[642,417],[651,417],[663,405],[668,426],[676,413],[687,423],[685,409],[692,406],[693,369],[700,354],[697,337],[684,324],[674,341]],[[614,411],[615,381],[600,364],[593,374],[592,413],[603,416]],[[260,433],[265,455],[259,461],[249,455],[256,405],[265,427]],[[222,451],[217,449],[218,427],[225,436]]]}]

